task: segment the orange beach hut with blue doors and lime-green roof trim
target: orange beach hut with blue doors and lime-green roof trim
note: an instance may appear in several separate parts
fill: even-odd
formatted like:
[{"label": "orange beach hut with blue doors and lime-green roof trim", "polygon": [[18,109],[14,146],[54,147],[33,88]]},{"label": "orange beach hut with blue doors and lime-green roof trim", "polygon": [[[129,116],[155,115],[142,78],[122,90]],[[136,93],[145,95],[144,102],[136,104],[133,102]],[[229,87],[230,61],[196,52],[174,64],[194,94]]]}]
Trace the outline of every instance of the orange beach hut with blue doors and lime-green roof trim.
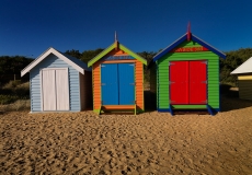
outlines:
[{"label": "orange beach hut with blue doors and lime-green roof trim", "polygon": [[93,69],[93,110],[145,110],[144,65],[141,58],[115,43],[88,62]]}]

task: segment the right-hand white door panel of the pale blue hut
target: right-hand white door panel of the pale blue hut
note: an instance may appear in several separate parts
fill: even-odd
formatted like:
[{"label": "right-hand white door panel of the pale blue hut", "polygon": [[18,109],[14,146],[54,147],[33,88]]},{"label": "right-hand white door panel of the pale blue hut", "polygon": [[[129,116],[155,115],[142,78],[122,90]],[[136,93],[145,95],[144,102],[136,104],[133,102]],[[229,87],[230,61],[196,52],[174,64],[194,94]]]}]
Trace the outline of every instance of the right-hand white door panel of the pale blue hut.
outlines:
[{"label": "right-hand white door panel of the pale blue hut", "polygon": [[57,110],[69,110],[68,69],[56,69]]}]

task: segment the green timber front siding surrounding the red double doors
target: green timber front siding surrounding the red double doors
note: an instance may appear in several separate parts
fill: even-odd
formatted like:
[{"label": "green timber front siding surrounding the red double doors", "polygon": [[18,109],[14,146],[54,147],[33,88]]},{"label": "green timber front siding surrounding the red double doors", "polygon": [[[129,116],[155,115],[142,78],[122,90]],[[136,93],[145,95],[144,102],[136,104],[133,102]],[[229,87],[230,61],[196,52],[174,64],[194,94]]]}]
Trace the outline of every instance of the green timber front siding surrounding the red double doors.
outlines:
[{"label": "green timber front siding surrounding the red double doors", "polygon": [[[201,46],[194,42],[184,42],[179,47]],[[207,95],[208,105],[219,108],[219,57],[213,51],[198,52],[169,52],[157,61],[157,86],[158,86],[158,107],[168,109],[170,105],[169,96],[169,62],[183,60],[206,60],[207,61]],[[176,107],[201,107],[199,105],[174,105]]]}]

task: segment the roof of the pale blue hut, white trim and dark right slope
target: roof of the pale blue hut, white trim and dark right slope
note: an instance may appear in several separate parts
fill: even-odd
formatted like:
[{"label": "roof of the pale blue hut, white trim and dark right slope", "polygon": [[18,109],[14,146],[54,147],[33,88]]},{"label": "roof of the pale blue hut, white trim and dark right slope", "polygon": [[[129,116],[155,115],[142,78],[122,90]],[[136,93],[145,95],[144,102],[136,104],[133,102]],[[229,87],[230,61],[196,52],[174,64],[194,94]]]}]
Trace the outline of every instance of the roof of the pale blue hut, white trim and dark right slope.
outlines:
[{"label": "roof of the pale blue hut, white trim and dark right slope", "polygon": [[60,52],[60,51],[56,50],[55,48],[50,47],[45,52],[43,52],[39,57],[37,57],[34,61],[32,61],[27,67],[25,67],[21,71],[21,77],[23,77],[25,73],[30,72],[34,67],[36,67],[42,60],[44,60],[50,54],[54,54],[59,59],[62,59],[65,62],[72,66],[76,70],[78,70],[82,74],[84,74],[84,70],[91,71],[91,69],[88,68],[88,66],[83,61],[81,61],[75,57],[71,57],[67,54]]}]

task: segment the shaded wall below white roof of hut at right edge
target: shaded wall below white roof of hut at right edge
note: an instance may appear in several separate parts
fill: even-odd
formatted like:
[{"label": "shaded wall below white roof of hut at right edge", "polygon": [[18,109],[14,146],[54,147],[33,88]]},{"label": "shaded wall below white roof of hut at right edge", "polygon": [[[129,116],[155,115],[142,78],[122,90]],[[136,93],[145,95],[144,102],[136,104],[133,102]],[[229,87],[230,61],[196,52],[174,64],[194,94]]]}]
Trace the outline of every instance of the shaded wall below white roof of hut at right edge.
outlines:
[{"label": "shaded wall below white roof of hut at right edge", "polygon": [[252,74],[238,74],[239,97],[252,101]]}]

